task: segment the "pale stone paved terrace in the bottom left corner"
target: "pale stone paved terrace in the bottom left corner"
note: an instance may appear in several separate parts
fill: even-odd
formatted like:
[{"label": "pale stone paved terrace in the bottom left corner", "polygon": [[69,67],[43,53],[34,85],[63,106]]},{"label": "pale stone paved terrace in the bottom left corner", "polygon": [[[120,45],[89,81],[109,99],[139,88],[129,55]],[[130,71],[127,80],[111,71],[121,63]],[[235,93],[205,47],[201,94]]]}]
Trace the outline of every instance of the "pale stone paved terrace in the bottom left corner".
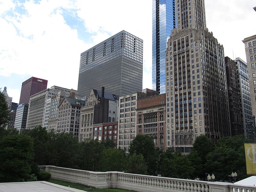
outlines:
[{"label": "pale stone paved terrace in the bottom left corner", "polygon": [[64,187],[46,181],[0,183],[1,192],[84,192],[79,189]]}]

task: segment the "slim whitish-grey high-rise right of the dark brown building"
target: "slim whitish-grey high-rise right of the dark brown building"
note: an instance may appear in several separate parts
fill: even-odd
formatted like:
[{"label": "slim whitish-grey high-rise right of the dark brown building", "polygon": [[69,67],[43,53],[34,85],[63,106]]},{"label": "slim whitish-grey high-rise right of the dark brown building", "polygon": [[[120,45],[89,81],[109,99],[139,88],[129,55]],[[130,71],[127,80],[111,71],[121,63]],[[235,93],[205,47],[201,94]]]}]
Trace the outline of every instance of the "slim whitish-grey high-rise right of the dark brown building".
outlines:
[{"label": "slim whitish-grey high-rise right of the dark brown building", "polygon": [[247,121],[252,121],[252,105],[250,97],[250,88],[247,72],[247,64],[239,57],[234,60],[236,62],[238,88],[241,100],[241,113],[244,136],[250,140],[254,140],[252,133],[248,132],[250,127]]}]

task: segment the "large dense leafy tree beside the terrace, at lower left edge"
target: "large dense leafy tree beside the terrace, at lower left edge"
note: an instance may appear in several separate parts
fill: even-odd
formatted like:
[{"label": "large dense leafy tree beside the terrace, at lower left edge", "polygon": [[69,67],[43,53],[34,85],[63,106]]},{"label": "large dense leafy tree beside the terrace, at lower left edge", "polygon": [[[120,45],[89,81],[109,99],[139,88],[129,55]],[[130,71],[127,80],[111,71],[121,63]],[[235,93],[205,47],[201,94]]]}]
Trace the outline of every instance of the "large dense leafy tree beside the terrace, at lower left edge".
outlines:
[{"label": "large dense leafy tree beside the terrace, at lower left edge", "polygon": [[28,135],[8,135],[0,140],[0,182],[27,181],[33,163],[33,139]]}]

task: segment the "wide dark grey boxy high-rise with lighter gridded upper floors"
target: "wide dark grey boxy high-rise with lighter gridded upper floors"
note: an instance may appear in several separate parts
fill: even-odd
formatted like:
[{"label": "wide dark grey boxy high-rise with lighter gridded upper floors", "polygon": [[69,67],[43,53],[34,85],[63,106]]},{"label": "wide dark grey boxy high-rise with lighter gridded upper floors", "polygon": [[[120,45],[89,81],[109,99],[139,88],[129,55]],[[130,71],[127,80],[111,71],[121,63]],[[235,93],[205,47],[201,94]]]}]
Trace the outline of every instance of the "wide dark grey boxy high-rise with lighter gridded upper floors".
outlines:
[{"label": "wide dark grey boxy high-rise with lighter gridded upper floors", "polygon": [[121,31],[81,53],[78,88],[88,97],[92,88],[115,95],[142,90],[143,40]]}]

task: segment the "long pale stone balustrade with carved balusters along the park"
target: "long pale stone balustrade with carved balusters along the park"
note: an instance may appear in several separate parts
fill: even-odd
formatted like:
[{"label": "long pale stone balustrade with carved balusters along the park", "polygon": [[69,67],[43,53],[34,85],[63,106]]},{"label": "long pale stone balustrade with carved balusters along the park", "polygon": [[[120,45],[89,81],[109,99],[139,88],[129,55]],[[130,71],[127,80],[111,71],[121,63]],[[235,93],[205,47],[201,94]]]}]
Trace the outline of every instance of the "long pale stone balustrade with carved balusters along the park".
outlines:
[{"label": "long pale stone balustrade with carved balusters along the park", "polygon": [[40,170],[52,174],[51,178],[81,183],[95,188],[120,188],[138,192],[256,192],[248,187],[224,182],[208,182],[124,172],[91,172],[56,166],[39,166]]}]

